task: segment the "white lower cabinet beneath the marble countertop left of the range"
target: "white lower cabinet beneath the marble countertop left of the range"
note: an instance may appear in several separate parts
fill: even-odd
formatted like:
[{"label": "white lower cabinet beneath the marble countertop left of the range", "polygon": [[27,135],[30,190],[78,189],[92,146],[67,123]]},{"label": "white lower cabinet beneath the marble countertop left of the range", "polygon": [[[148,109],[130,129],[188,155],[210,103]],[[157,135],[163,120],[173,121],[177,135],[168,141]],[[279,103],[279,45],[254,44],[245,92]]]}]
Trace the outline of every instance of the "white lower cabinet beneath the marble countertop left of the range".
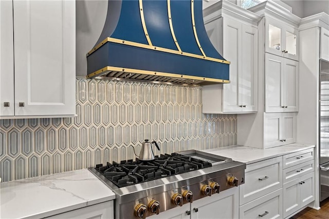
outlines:
[{"label": "white lower cabinet beneath the marble countertop left of the range", "polygon": [[112,219],[114,218],[113,200],[100,204],[79,208],[77,210],[56,214],[47,218],[63,219]]}]

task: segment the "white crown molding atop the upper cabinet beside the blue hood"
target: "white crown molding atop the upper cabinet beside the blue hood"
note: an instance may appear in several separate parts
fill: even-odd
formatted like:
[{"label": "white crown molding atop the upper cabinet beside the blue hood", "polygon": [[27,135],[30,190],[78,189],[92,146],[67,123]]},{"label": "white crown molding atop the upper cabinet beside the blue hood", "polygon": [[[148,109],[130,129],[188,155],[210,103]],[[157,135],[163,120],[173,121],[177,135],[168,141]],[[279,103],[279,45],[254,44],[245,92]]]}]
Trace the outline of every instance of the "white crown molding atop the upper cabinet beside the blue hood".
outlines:
[{"label": "white crown molding atop the upper cabinet beside the blue hood", "polygon": [[249,20],[249,22],[253,22],[255,24],[258,24],[258,22],[262,19],[262,16],[224,0],[218,1],[203,10],[204,21],[217,19],[223,14],[229,14],[237,19]]}]

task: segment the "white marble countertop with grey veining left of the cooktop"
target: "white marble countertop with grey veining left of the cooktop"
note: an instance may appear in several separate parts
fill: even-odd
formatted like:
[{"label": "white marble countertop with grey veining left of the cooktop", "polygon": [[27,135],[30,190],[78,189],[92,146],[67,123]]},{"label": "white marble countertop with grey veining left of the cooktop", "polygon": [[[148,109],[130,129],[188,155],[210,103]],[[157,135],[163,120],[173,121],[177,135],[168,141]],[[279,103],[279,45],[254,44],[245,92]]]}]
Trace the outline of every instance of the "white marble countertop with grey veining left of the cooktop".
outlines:
[{"label": "white marble countertop with grey veining left of the cooktop", "polygon": [[42,218],[115,199],[87,169],[0,184],[0,218]]}]

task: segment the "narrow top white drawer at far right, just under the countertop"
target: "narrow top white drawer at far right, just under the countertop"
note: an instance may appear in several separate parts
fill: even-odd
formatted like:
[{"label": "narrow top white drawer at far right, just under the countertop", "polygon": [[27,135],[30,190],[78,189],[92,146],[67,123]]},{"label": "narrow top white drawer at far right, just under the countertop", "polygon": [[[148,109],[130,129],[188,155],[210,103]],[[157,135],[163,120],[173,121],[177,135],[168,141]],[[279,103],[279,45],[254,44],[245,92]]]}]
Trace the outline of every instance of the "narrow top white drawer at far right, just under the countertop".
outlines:
[{"label": "narrow top white drawer at far right, just under the countertop", "polygon": [[314,159],[314,148],[283,155],[283,169]]}]

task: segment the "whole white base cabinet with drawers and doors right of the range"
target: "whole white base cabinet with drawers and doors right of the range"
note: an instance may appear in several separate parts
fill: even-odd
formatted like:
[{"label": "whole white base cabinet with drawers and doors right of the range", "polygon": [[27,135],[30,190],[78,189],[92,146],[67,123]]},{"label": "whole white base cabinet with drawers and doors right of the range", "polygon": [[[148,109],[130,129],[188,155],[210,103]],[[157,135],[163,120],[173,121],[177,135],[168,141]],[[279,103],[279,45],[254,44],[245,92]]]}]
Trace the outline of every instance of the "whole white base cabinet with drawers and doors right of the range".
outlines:
[{"label": "whole white base cabinet with drawers and doors right of the range", "polygon": [[315,200],[314,148],[250,163],[239,218],[290,218]]}]

